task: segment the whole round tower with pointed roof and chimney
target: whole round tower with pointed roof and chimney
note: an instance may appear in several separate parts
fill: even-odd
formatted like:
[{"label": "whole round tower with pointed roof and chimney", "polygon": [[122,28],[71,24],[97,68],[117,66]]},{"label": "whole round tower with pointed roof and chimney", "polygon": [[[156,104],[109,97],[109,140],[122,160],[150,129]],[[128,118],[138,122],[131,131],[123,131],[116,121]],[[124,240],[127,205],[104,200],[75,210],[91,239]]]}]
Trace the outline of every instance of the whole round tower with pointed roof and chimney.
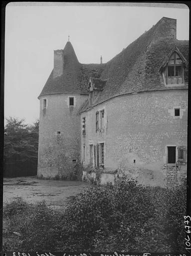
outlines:
[{"label": "whole round tower with pointed roof and chimney", "polygon": [[88,98],[81,72],[70,41],[54,50],[53,70],[38,97],[38,177],[67,178],[79,160],[79,110]]}]

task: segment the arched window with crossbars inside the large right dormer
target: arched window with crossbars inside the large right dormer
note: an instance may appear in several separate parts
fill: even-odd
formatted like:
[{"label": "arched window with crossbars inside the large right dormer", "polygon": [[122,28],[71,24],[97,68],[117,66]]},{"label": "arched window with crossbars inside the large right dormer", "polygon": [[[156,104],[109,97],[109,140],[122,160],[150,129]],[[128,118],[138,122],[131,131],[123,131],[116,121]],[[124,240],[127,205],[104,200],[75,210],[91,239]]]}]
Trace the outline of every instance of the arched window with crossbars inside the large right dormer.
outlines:
[{"label": "arched window with crossbars inside the large right dormer", "polygon": [[167,68],[167,84],[181,84],[184,83],[184,66],[183,60],[175,51],[168,62]]}]

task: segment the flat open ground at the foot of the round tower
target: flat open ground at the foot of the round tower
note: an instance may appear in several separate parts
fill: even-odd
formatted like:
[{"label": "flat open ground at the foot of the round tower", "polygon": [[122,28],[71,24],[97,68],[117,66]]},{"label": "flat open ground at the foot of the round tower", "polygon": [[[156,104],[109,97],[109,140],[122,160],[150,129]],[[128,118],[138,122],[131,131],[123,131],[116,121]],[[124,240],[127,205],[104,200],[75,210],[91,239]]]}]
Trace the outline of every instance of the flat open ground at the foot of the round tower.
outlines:
[{"label": "flat open ground at the foot of the round tower", "polygon": [[81,181],[45,180],[35,176],[4,178],[3,203],[21,196],[28,203],[46,200],[50,208],[59,210],[86,186],[87,184]]}]

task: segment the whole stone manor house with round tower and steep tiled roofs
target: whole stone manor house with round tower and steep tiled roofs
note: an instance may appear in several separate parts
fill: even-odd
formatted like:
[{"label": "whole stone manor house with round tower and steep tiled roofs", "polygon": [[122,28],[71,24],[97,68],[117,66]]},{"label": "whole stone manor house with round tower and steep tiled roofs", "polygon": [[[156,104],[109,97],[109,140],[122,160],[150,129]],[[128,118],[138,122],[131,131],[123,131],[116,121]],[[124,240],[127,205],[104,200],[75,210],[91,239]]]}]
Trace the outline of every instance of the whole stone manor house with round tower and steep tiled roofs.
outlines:
[{"label": "whole stone manor house with round tower and steep tiled roofs", "polygon": [[[77,163],[83,178],[174,185],[187,175],[189,41],[163,17],[107,63],[83,64],[70,41],[54,50],[40,95],[38,177]],[[86,168],[87,167],[87,168]]]}]

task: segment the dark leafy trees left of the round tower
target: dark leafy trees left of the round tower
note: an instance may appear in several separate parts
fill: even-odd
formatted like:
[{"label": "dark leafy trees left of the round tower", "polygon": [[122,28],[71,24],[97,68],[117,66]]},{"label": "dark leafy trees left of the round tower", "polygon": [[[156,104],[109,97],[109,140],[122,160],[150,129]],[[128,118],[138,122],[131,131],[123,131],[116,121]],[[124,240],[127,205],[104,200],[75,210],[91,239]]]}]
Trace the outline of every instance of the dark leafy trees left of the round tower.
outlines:
[{"label": "dark leafy trees left of the round tower", "polygon": [[[12,172],[18,172],[22,168],[27,168],[27,170],[37,168],[39,121],[28,125],[24,123],[24,119],[9,117],[6,118],[6,122],[4,128],[4,170],[6,174],[9,169]],[[21,173],[24,171],[22,170]]]}]

